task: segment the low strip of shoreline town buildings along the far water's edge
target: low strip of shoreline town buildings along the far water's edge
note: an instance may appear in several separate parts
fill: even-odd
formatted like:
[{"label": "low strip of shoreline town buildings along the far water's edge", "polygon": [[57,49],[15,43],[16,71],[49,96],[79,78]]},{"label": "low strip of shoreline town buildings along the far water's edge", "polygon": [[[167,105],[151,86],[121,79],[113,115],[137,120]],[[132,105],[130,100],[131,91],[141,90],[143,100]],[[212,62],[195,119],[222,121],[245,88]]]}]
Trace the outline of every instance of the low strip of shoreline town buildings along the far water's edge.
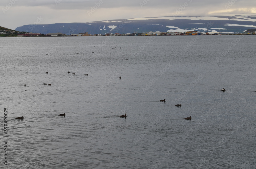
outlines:
[{"label": "low strip of shoreline town buildings along the far water's edge", "polygon": [[[71,36],[71,37],[79,37],[79,36],[168,36],[168,35],[239,35],[239,34],[256,34],[256,29],[254,30],[247,30],[243,33],[227,33],[227,32],[198,32],[198,31],[187,31],[187,32],[143,32],[143,33],[106,33],[106,34],[89,34],[88,32],[84,33],[71,33],[70,35],[67,35],[65,33],[47,33],[47,34],[41,34],[41,33],[28,33],[28,32],[16,32],[16,31],[7,31],[7,30],[0,30],[0,35],[2,37],[6,37],[8,35],[12,35],[12,37],[63,37],[63,36]],[[5,36],[6,35],[6,36]]]}]

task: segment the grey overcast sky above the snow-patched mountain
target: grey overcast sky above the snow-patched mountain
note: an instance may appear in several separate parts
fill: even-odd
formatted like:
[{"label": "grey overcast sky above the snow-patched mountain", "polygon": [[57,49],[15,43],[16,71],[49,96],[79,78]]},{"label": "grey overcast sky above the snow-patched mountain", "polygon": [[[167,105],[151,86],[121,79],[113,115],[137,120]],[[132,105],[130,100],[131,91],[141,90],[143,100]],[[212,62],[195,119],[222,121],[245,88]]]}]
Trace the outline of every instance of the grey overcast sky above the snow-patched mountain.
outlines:
[{"label": "grey overcast sky above the snow-patched mountain", "polygon": [[1,0],[0,7],[0,26],[9,29],[35,22],[256,13],[255,0]]}]

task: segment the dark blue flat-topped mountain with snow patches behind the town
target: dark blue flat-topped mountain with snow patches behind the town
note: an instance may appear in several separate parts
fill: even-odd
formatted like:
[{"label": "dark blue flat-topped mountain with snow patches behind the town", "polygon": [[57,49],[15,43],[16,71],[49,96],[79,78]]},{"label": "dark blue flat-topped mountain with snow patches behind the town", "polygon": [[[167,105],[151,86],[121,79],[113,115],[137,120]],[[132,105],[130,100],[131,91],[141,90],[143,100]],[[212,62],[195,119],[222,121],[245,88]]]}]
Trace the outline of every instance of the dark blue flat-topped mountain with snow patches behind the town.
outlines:
[{"label": "dark blue flat-topped mountain with snow patches behind the town", "polygon": [[[47,25],[24,25],[16,31],[38,33],[143,33],[161,32],[233,32],[242,33],[255,26],[256,15],[210,16],[210,17],[152,17],[136,19],[105,20],[87,23],[54,23]],[[253,27],[254,26],[254,27]]]}]

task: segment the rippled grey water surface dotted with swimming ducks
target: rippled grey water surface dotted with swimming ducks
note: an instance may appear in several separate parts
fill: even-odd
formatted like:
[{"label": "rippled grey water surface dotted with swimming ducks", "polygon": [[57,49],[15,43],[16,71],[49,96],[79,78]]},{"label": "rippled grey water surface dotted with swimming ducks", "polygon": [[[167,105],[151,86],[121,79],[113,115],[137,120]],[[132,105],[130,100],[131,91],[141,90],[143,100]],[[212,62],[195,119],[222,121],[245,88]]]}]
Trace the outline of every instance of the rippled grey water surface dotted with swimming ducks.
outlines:
[{"label": "rippled grey water surface dotted with swimming ducks", "polygon": [[255,168],[254,44],[253,35],[0,38],[0,168]]}]

